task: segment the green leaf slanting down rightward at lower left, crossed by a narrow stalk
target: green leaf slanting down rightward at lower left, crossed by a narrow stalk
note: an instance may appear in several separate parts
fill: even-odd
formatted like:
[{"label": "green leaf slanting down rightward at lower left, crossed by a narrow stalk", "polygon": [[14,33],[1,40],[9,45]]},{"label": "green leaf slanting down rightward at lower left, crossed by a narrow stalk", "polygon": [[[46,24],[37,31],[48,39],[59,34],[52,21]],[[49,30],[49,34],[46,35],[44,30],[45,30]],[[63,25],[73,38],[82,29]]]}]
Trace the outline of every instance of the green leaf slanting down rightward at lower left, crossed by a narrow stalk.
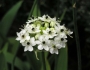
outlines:
[{"label": "green leaf slanting down rightward at lower left, crossed by a narrow stalk", "polygon": [[[4,53],[5,55],[5,58],[6,58],[6,61],[10,64],[12,64],[13,62],[13,59],[14,59],[14,55],[9,53],[9,52],[6,52]],[[14,65],[19,69],[19,70],[29,70],[30,69],[30,65],[29,63],[27,62],[22,62],[22,60],[20,60],[18,57],[15,57],[15,63]],[[2,69],[0,69],[2,70]]]}]

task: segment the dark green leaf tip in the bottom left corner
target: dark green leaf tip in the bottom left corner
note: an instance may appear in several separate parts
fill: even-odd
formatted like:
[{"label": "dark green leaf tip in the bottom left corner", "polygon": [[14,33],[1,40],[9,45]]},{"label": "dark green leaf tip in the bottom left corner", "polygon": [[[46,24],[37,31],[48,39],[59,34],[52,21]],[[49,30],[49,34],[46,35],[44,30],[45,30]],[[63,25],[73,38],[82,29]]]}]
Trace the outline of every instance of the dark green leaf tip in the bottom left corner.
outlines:
[{"label": "dark green leaf tip in the bottom left corner", "polygon": [[8,70],[7,62],[2,52],[0,52],[0,70]]}]

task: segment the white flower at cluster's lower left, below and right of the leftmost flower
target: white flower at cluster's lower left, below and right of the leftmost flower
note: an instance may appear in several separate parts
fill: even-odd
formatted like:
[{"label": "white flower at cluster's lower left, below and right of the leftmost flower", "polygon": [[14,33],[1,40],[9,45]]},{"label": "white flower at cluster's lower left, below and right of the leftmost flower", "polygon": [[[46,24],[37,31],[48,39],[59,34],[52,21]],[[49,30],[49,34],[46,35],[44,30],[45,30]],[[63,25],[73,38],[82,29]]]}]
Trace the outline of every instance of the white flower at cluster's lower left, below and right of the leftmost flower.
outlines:
[{"label": "white flower at cluster's lower left, below and right of the leftmost flower", "polygon": [[22,45],[25,46],[24,51],[33,51],[33,46],[36,45],[34,37],[30,38],[30,40],[26,40]]}]

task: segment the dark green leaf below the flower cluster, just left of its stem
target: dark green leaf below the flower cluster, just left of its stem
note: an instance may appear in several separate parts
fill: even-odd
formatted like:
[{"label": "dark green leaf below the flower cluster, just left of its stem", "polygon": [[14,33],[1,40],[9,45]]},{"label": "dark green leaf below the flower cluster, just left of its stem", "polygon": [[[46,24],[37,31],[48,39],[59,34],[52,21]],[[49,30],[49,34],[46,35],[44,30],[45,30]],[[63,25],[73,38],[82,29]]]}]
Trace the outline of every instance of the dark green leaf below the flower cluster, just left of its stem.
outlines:
[{"label": "dark green leaf below the flower cluster, just left of its stem", "polygon": [[41,69],[41,54],[40,53],[38,53],[39,60],[37,60],[34,52],[27,51],[26,56],[33,70]]}]

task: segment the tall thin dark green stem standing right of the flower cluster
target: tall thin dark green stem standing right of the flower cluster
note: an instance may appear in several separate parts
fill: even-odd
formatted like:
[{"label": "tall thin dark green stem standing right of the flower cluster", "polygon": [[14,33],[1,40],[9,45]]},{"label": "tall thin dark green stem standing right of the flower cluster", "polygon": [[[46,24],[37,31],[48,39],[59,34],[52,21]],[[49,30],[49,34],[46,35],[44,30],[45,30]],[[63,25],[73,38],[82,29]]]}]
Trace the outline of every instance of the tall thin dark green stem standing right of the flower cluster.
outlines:
[{"label": "tall thin dark green stem standing right of the flower cluster", "polygon": [[79,35],[78,35],[78,28],[77,28],[77,20],[76,20],[76,18],[77,18],[76,1],[73,0],[73,23],[74,23],[76,46],[77,46],[78,70],[81,70],[80,41],[79,41]]}]

